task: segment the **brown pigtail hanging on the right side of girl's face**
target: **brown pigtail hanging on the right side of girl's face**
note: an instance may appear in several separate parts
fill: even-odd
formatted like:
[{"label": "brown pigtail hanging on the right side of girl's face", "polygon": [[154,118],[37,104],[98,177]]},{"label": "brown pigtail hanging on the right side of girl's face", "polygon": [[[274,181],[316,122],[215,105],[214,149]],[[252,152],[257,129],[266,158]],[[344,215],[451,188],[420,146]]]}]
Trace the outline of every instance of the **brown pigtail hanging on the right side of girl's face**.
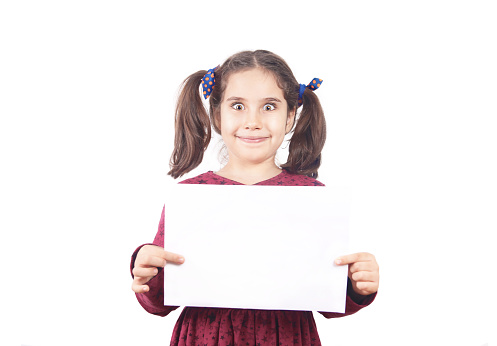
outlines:
[{"label": "brown pigtail hanging on the right side of girl's face", "polygon": [[302,111],[290,140],[288,161],[281,167],[294,174],[317,178],[326,141],[326,120],[319,98],[306,88]]}]

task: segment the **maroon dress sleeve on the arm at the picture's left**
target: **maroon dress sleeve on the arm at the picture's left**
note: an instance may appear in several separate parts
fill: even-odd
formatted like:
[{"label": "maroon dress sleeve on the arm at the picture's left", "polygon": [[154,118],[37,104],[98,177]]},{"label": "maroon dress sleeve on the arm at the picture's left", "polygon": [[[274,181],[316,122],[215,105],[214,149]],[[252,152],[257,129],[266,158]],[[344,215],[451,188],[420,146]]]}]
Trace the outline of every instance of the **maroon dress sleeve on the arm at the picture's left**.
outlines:
[{"label": "maroon dress sleeve on the arm at the picture's left", "polygon": [[[155,235],[154,242],[152,244],[143,244],[140,245],[131,256],[131,276],[133,277],[133,267],[135,266],[135,259],[138,251],[145,245],[156,245],[160,247],[164,247],[164,208],[162,208],[162,215],[159,222],[159,227],[157,230],[157,234]],[[135,293],[136,298],[140,305],[149,313],[158,315],[158,316],[166,316],[171,311],[176,310],[178,306],[164,306],[164,270],[163,268],[159,268],[159,272],[157,275],[152,278],[147,285],[150,287],[150,290],[145,293]]]}]

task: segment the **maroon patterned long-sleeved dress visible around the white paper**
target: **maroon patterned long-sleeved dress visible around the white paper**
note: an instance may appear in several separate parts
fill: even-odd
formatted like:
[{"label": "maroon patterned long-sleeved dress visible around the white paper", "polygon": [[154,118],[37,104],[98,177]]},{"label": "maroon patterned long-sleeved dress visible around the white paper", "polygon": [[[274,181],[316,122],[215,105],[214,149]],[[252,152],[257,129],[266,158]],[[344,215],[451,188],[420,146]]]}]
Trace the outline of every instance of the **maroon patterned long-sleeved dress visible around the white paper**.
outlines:
[{"label": "maroon patterned long-sleeved dress visible around the white paper", "polygon": [[[180,184],[243,185],[207,172]],[[316,179],[290,174],[283,170],[277,176],[255,185],[324,186]],[[154,245],[164,247],[164,209]],[[144,244],[146,245],[146,244]],[[142,245],[143,246],[143,245]],[[140,248],[133,253],[131,269]],[[164,306],[164,272],[148,282],[150,291],[137,293],[143,308],[151,314],[166,316],[178,306]],[[361,296],[347,285],[345,314],[320,312],[326,318],[353,314],[371,304],[376,296]],[[233,345],[321,345],[311,311],[252,310],[185,307],[176,322],[171,345],[233,346]]]}]

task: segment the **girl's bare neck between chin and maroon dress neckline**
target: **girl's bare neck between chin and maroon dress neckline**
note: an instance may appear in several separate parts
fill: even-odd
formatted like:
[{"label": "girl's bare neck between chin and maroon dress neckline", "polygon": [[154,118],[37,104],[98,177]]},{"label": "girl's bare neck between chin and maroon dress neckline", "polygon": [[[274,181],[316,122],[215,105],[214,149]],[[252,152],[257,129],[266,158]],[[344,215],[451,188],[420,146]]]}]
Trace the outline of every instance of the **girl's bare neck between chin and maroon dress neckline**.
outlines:
[{"label": "girl's bare neck between chin and maroon dress neckline", "polygon": [[266,165],[237,165],[233,163],[230,164],[229,161],[226,166],[216,172],[216,174],[221,177],[228,178],[245,185],[257,184],[261,181],[273,178],[280,173],[281,169],[276,166],[274,162]]}]

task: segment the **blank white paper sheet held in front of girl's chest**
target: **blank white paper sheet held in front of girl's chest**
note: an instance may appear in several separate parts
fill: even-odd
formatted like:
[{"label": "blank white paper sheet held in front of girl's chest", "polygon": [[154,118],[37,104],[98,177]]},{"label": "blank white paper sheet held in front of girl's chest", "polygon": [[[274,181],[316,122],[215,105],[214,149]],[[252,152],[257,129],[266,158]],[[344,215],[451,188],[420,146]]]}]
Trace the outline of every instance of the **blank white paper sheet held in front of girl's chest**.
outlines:
[{"label": "blank white paper sheet held in front of girl's chest", "polygon": [[167,191],[164,304],[345,312],[348,200],[338,188],[177,184]]}]

